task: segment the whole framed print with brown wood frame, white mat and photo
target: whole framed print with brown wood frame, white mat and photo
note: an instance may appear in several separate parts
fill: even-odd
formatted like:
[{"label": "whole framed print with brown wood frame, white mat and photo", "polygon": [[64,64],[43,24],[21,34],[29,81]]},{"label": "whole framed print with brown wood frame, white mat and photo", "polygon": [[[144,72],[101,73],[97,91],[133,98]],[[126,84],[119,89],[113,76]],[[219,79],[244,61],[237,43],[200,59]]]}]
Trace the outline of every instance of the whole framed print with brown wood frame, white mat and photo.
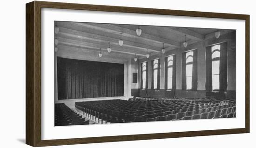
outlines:
[{"label": "whole framed print with brown wood frame, white mat and photo", "polygon": [[249,15],[26,4],[26,143],[249,133]]}]

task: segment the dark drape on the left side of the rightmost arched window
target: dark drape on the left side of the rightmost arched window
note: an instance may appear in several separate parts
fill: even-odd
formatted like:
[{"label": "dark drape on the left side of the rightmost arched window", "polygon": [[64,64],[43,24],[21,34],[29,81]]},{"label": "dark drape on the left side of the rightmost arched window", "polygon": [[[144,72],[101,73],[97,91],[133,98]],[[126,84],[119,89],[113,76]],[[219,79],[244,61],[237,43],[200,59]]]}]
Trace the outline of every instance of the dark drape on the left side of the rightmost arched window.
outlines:
[{"label": "dark drape on the left side of the rightmost arched window", "polygon": [[205,90],[212,91],[212,51],[211,46],[205,51]]}]

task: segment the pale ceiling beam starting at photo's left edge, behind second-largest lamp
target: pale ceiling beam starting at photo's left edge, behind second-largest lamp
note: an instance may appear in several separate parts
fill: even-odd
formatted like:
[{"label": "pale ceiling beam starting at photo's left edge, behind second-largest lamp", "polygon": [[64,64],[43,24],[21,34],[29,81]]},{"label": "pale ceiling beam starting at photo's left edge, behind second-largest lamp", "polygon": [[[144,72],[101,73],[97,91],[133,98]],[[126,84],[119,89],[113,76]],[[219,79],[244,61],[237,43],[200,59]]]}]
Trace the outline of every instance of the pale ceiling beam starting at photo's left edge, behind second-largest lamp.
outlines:
[{"label": "pale ceiling beam starting at photo's left edge, behind second-largest lamp", "polygon": [[[60,28],[60,32],[59,32],[59,34],[56,34],[56,36],[60,36],[63,38],[68,38],[68,39],[78,38],[78,39],[85,39],[85,40],[100,41],[100,42],[105,42],[107,44],[108,44],[108,42],[110,42],[111,46],[112,45],[119,46],[119,43],[118,43],[119,38],[112,38],[112,37],[106,37],[106,36],[101,36],[101,35],[97,35],[97,34],[85,33],[85,32],[76,31],[73,29],[68,29],[65,27],[59,27],[59,28]],[[139,44],[136,42],[131,42],[131,41],[124,41],[124,42],[125,43],[123,44],[122,47],[136,48],[137,50],[141,50],[144,52],[146,52],[147,49],[149,52],[160,52],[160,50],[161,50],[161,49],[158,49],[157,47],[143,45],[143,44]]]}]

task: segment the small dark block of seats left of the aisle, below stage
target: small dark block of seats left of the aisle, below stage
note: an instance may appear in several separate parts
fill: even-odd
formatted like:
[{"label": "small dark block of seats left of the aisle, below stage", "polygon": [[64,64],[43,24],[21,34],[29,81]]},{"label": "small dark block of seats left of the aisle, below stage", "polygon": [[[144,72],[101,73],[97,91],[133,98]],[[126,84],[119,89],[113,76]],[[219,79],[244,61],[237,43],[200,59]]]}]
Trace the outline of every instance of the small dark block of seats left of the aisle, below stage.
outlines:
[{"label": "small dark block of seats left of the aisle, below stage", "polygon": [[64,103],[55,104],[55,126],[65,125],[83,125],[89,124],[89,120],[85,121],[81,115],[77,114]]}]

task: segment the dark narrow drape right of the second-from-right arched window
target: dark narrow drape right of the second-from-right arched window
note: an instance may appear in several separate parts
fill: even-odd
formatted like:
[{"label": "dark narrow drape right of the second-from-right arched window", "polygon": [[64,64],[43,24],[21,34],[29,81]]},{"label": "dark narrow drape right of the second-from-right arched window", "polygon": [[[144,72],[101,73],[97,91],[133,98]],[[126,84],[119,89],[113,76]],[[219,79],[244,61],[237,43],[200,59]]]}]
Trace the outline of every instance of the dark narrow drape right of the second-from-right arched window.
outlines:
[{"label": "dark narrow drape right of the second-from-right arched window", "polygon": [[197,49],[193,52],[192,90],[197,90]]}]

